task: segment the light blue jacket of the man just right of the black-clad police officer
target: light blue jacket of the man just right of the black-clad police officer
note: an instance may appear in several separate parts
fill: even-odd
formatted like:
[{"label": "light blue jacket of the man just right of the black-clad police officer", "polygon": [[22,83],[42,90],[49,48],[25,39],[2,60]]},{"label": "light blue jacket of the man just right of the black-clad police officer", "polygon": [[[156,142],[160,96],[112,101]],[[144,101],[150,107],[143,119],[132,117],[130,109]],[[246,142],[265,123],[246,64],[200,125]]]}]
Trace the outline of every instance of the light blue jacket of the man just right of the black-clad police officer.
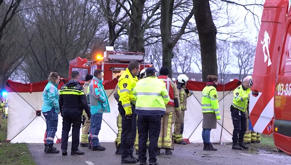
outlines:
[{"label": "light blue jacket of the man just right of the black-clad police officer", "polygon": [[108,97],[102,82],[97,77],[93,77],[89,85],[91,115],[110,112]]}]

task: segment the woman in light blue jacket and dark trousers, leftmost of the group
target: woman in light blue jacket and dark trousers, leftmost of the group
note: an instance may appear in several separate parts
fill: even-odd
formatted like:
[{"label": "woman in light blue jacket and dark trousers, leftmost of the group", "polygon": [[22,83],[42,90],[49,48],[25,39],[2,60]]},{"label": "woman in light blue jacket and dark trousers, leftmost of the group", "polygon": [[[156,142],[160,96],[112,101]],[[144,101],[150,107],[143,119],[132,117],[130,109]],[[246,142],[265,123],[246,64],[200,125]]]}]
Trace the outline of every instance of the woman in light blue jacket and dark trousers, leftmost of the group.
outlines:
[{"label": "woman in light blue jacket and dark trousers, leftmost of the group", "polygon": [[60,151],[53,147],[53,139],[58,127],[59,107],[59,91],[58,85],[60,82],[60,75],[56,72],[51,72],[48,78],[49,82],[43,91],[43,101],[41,111],[46,119],[47,129],[45,133],[45,152],[59,153]]}]

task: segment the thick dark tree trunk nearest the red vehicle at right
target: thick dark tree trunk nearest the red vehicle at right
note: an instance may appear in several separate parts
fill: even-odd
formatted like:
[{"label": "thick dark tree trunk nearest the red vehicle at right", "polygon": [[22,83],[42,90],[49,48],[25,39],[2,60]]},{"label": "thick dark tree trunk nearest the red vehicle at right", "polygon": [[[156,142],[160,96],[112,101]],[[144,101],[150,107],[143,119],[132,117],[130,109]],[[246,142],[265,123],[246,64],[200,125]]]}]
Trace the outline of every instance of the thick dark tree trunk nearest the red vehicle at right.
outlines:
[{"label": "thick dark tree trunk nearest the red vehicle at right", "polygon": [[208,0],[194,0],[196,21],[202,63],[202,81],[208,81],[207,75],[218,75],[216,57],[216,27],[214,26]]}]

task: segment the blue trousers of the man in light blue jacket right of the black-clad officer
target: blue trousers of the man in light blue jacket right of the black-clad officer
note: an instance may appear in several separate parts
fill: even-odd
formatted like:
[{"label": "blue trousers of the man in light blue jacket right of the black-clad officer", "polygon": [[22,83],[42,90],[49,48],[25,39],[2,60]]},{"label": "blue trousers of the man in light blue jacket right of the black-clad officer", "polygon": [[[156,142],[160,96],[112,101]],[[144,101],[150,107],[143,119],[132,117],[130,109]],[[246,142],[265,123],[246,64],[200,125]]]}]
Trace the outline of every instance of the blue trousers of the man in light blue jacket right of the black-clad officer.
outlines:
[{"label": "blue trousers of the man in light blue jacket right of the black-clad officer", "polygon": [[103,113],[97,113],[91,117],[91,125],[89,130],[89,142],[92,147],[99,145],[99,131],[101,129]]}]

